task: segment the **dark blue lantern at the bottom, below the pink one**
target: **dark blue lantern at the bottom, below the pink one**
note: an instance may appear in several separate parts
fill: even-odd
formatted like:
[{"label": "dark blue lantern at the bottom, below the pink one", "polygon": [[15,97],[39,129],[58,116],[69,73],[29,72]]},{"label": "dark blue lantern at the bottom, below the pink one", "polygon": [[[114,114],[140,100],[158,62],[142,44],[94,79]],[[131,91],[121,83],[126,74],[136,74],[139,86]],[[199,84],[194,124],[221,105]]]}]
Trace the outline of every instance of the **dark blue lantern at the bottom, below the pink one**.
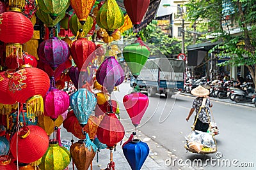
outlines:
[{"label": "dark blue lantern at the bottom, below the pink one", "polygon": [[140,170],[148,157],[149,148],[147,143],[140,141],[140,139],[132,139],[123,145],[123,152],[132,170]]}]

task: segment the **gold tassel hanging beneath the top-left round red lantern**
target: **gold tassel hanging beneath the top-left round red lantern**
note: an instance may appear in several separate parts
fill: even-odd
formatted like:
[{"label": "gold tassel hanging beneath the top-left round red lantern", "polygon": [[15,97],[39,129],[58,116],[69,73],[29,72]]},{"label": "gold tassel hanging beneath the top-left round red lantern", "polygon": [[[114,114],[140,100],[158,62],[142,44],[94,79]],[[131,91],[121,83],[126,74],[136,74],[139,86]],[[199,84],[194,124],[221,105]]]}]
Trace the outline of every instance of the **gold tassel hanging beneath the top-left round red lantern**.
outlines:
[{"label": "gold tassel hanging beneath the top-left round red lantern", "polygon": [[22,45],[19,43],[8,43],[6,45],[6,58],[8,57],[21,57]]}]

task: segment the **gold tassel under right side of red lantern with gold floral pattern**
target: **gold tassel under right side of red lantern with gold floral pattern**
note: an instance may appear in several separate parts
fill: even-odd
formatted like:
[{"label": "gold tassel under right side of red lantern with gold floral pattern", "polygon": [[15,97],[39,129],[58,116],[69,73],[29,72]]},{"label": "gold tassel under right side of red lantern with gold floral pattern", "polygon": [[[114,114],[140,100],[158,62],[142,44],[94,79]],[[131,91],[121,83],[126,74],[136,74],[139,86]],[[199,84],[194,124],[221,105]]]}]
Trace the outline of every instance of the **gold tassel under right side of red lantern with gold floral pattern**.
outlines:
[{"label": "gold tassel under right side of red lantern with gold floral pattern", "polygon": [[33,117],[33,113],[36,116],[40,116],[42,115],[42,113],[44,113],[44,99],[42,96],[35,95],[33,97],[30,97],[26,101],[26,104],[27,104],[27,111],[29,116]]}]

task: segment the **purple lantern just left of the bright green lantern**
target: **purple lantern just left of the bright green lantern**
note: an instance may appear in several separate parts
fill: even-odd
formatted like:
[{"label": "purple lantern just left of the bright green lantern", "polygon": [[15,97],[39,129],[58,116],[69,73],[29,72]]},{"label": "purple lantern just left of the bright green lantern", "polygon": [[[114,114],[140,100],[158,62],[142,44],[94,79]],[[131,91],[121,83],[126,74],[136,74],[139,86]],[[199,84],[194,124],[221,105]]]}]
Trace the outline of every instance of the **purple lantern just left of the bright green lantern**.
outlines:
[{"label": "purple lantern just left of the bright green lantern", "polygon": [[115,86],[120,85],[124,81],[124,70],[118,64],[115,56],[106,58],[96,73],[98,83],[108,90],[109,94]]}]

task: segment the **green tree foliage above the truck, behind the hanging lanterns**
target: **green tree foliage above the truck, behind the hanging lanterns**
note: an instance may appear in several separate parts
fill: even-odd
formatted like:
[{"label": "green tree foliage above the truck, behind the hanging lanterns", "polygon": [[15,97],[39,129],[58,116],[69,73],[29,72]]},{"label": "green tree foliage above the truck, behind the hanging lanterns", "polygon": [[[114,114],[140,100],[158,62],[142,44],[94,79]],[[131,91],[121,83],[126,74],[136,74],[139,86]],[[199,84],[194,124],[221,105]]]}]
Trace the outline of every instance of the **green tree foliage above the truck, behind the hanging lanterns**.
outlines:
[{"label": "green tree foliage above the truck, behind the hanging lanterns", "polygon": [[[157,56],[158,53],[161,52],[166,57],[173,57],[181,52],[181,42],[176,38],[170,38],[168,34],[164,33],[161,28],[157,26],[156,20],[152,20],[152,22],[138,34],[143,41],[150,43],[159,49],[152,49],[152,55]],[[132,29],[125,31],[123,36],[124,38],[134,37]]]}]

